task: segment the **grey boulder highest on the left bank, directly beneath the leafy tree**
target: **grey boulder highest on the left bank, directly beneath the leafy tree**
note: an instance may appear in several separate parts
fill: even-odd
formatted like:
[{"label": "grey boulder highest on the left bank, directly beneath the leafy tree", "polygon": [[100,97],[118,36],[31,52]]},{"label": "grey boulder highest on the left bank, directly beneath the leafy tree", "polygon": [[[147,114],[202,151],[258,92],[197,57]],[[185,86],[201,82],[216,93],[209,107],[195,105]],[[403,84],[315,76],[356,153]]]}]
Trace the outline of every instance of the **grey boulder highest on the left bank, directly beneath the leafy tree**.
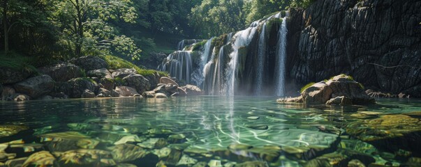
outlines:
[{"label": "grey boulder highest on the left bank, directly beneath the leafy tree", "polygon": [[72,60],[75,65],[82,67],[86,71],[107,68],[108,64],[98,56],[82,56]]}]

